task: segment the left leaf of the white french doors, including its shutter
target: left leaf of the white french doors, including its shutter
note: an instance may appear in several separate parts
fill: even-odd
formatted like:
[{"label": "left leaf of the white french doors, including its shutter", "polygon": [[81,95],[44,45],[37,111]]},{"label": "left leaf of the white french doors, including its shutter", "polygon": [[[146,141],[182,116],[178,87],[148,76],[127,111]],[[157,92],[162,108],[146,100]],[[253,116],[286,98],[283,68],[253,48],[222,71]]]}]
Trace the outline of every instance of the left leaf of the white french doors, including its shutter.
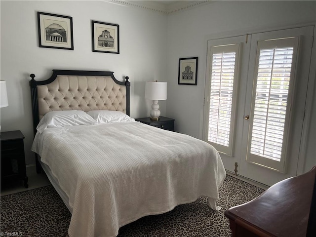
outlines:
[{"label": "left leaf of the white french doors, including its shutter", "polygon": [[221,154],[227,170],[235,172],[240,155],[251,36],[208,41],[205,86],[204,141]]}]

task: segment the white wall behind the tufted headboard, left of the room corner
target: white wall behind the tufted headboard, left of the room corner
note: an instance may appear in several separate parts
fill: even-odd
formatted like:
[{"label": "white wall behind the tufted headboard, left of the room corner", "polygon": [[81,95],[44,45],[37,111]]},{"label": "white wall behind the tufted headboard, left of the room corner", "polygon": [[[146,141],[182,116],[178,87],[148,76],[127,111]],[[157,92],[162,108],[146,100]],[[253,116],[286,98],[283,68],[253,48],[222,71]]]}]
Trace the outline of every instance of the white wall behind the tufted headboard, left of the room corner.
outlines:
[{"label": "white wall behind the tufted headboard, left of the room corner", "polygon": [[[52,69],[113,71],[129,76],[131,117],[149,116],[145,81],[166,78],[166,16],[105,1],[0,1],[0,78],[9,106],[1,108],[1,131],[21,130],[26,163],[35,163],[29,75],[48,79]],[[37,11],[73,17],[74,50],[40,48]],[[120,53],[92,52],[91,20],[118,24]],[[165,115],[165,102],[159,103]]]}]

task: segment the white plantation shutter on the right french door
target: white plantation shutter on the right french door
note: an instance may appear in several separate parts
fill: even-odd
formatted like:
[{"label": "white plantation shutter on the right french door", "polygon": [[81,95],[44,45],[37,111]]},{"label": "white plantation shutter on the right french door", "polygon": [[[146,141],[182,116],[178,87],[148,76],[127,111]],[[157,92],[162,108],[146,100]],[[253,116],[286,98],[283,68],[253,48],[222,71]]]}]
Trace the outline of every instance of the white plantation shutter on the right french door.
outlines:
[{"label": "white plantation shutter on the right french door", "polygon": [[259,41],[247,159],[276,170],[284,165],[298,38]]}]

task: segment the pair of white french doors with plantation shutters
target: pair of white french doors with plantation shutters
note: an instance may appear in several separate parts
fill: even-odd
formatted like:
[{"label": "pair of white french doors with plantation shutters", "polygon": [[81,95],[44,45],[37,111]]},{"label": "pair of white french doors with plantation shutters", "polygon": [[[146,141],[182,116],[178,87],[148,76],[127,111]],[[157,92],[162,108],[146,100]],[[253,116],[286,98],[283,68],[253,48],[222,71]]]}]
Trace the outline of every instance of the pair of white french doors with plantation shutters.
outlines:
[{"label": "pair of white french doors with plantation shutters", "polygon": [[314,27],[209,40],[204,140],[265,185],[297,172]]}]

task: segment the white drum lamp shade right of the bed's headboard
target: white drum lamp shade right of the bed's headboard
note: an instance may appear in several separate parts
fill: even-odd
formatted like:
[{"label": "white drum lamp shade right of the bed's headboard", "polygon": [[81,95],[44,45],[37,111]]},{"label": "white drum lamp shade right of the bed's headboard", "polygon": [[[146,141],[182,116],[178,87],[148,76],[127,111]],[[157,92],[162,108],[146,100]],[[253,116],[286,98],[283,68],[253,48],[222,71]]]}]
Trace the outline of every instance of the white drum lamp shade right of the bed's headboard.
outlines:
[{"label": "white drum lamp shade right of the bed's headboard", "polygon": [[149,100],[166,100],[167,82],[146,81],[145,98]]}]

